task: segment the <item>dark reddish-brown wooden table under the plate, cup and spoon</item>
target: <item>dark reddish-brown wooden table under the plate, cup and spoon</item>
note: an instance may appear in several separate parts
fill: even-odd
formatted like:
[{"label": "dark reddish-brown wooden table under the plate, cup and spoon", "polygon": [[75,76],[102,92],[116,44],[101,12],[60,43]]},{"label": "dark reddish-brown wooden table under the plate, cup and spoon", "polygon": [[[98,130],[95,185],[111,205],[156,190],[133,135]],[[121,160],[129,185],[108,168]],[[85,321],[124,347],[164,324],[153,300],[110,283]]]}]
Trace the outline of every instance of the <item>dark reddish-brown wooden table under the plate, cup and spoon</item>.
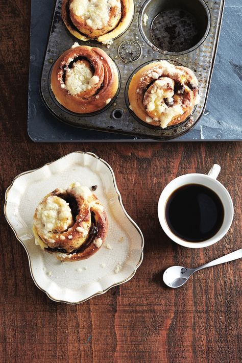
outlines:
[{"label": "dark reddish-brown wooden table under the plate, cup and spoon", "polygon": [[[41,2],[40,2],[41,3]],[[51,301],[32,281],[26,252],[1,213],[1,362],[239,362],[241,260],[203,270],[180,289],[162,272],[196,266],[241,248],[239,143],[36,144],[27,134],[30,1],[1,2],[1,210],[19,173],[71,151],[91,151],[113,167],[126,210],[141,228],[144,259],[128,283],[81,305]],[[222,166],[235,214],[228,234],[204,249],[173,243],[157,201],[173,178]]]}]

